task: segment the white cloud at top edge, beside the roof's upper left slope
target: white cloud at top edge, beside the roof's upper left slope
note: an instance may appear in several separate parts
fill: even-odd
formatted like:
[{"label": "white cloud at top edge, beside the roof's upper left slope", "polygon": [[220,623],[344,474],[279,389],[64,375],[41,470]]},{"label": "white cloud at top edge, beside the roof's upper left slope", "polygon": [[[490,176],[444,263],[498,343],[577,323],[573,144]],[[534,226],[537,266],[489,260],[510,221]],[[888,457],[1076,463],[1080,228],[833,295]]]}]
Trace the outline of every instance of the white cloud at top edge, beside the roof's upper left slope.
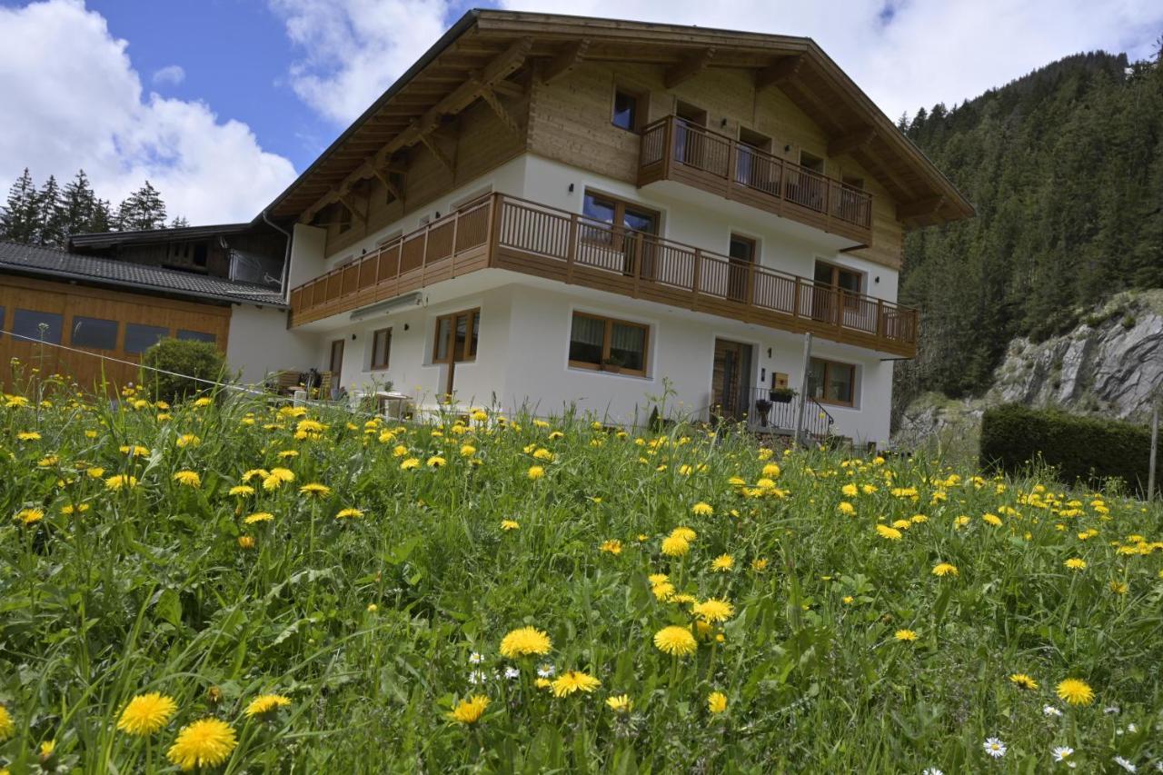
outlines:
[{"label": "white cloud at top edge, beside the roof's upper left slope", "polygon": [[347,125],[428,50],[452,20],[447,0],[270,0],[302,58],[295,94]]}]

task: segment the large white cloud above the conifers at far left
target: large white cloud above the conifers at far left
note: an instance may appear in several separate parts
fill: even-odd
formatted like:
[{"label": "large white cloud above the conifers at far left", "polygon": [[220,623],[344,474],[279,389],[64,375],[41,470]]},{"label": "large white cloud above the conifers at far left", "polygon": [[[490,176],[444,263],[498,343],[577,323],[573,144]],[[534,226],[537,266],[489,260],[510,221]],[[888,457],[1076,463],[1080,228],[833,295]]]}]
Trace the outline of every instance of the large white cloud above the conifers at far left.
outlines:
[{"label": "large white cloud above the conifers at far left", "polygon": [[206,223],[250,220],[295,177],[245,123],[143,94],[127,42],[80,0],[0,8],[0,185],[84,168],[116,205],[148,178],[171,216]]}]

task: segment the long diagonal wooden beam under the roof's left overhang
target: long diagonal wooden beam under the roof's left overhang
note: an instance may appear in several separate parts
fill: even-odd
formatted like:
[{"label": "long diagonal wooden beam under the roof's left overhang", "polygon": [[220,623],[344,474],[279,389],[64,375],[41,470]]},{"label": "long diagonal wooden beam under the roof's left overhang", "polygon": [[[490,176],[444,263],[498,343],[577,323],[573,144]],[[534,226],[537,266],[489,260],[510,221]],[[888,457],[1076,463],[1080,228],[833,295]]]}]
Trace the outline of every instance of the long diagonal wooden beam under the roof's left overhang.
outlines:
[{"label": "long diagonal wooden beam under the roof's left overhang", "polygon": [[[442,98],[436,105],[428,108],[423,115],[414,119],[404,131],[395,135],[392,140],[384,144],[374,156],[369,161],[365,161],[356,170],[349,173],[343,180],[335,186],[331,191],[320,197],[313,205],[304,211],[300,216],[300,221],[308,222],[314,218],[315,213],[320,208],[326,207],[330,202],[335,201],[340,194],[347,193],[354,183],[357,180],[363,180],[374,176],[374,170],[379,169],[385,161],[392,157],[398,150],[415,145],[416,143],[423,142],[423,137],[431,131],[434,131],[440,126],[440,119],[443,115],[456,114],[466,108],[485,88],[491,88],[495,84],[505,80],[511,74],[516,72],[516,70],[525,64],[526,57],[529,55],[529,50],[533,48],[531,37],[521,37],[513,42],[505,51],[493,57],[493,59],[485,65],[483,70],[473,76],[470,76],[459,86],[452,90],[448,95]],[[445,166],[450,166],[450,162],[441,151],[433,150],[441,158],[441,163]]]}]

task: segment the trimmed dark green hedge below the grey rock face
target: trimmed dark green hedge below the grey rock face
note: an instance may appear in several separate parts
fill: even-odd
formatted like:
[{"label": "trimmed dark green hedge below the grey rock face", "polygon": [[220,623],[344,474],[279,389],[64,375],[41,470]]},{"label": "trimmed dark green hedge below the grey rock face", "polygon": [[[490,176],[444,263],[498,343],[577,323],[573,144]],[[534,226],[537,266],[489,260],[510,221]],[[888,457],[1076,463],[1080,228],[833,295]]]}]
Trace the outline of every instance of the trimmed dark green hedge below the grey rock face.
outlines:
[{"label": "trimmed dark green hedge below the grey rock face", "polygon": [[[1042,460],[1066,484],[1119,477],[1146,493],[1150,443],[1150,428],[1143,426],[1019,404],[986,410],[982,418],[984,465],[1013,474]],[[1163,481],[1163,465],[1156,465],[1156,479]]]}]

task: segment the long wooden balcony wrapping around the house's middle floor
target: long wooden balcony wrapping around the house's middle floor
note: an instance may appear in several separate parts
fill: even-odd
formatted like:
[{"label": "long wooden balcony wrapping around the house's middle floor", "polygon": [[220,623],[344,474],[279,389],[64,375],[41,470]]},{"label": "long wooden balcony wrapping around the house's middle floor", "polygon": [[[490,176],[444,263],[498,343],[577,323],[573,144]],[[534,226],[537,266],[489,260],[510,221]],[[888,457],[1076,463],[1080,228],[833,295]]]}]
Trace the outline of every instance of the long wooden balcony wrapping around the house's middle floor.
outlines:
[{"label": "long wooden balcony wrapping around the house's middle floor", "polygon": [[490,194],[291,292],[291,325],[507,269],[912,357],[918,313],[754,263]]}]

